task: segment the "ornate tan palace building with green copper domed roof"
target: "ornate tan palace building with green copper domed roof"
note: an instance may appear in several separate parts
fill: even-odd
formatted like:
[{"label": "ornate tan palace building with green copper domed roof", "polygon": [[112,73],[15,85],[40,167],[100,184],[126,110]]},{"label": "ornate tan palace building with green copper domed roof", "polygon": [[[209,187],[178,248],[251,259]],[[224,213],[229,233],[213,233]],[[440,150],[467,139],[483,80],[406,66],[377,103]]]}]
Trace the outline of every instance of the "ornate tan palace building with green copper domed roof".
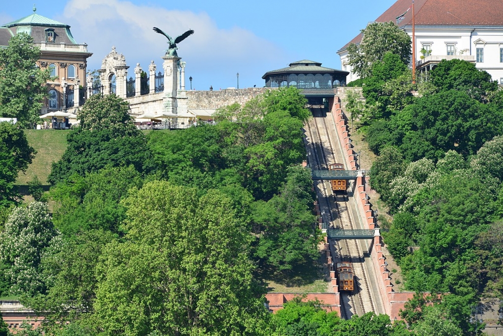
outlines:
[{"label": "ornate tan palace building with green copper domed roof", "polygon": [[28,33],[34,44],[40,47],[37,66],[50,69],[47,81],[48,98],[41,114],[67,110],[83,104],[86,93],[87,59],[92,55],[87,44],[79,44],[70,32],[70,26],[36,14],[0,26],[0,48],[9,45],[11,37]]}]

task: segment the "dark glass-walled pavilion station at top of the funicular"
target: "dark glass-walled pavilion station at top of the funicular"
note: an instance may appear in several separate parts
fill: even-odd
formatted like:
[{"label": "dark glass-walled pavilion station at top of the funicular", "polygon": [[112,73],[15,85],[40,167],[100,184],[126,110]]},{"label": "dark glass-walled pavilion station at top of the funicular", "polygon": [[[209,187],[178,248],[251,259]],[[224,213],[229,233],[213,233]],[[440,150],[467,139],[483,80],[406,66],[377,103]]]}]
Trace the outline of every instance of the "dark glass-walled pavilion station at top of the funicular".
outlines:
[{"label": "dark glass-walled pavilion station at top of the funicular", "polygon": [[288,67],[266,72],[262,76],[267,88],[296,87],[302,90],[310,108],[327,109],[335,95],[334,89],[346,86],[348,71],[321,66],[321,63],[302,60]]}]

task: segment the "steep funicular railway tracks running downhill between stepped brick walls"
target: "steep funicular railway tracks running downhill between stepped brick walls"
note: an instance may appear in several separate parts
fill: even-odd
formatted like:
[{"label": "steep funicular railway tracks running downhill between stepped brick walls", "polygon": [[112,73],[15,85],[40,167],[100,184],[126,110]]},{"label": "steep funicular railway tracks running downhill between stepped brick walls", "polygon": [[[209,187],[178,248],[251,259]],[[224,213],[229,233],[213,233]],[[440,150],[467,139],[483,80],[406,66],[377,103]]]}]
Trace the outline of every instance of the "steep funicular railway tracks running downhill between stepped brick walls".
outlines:
[{"label": "steep funicular railway tracks running downhill between stepped brick walls", "polygon": [[[339,138],[336,136],[332,139],[331,137],[335,131],[334,125],[330,123],[327,125],[327,118],[321,110],[313,109],[312,112],[313,118],[305,126],[310,166],[313,169],[324,170],[328,169],[328,163],[332,162],[340,162],[348,166]],[[348,193],[333,194],[328,181],[316,181],[315,185],[324,223],[335,228],[364,228],[351,191],[349,195]],[[361,245],[362,242],[365,246]],[[351,318],[353,314],[361,316],[369,311],[384,313],[375,274],[368,256],[368,243],[356,239],[343,239],[329,241],[329,248],[334,257],[334,263],[351,262],[355,271],[355,291],[340,294],[342,317]]]}]

